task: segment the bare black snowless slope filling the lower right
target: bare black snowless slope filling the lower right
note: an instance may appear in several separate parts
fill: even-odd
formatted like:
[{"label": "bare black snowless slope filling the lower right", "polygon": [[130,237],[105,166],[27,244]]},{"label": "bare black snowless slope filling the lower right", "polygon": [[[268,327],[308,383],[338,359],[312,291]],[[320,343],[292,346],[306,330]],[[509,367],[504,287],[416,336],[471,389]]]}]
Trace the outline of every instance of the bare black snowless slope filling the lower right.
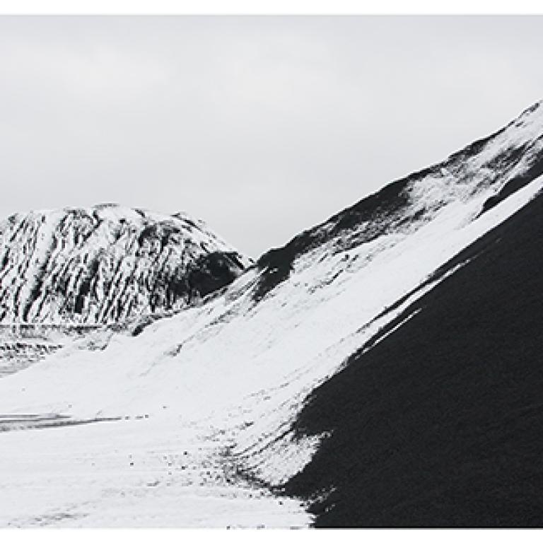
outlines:
[{"label": "bare black snowless slope filling the lower right", "polygon": [[317,527],[543,525],[542,239],[537,197],[313,392]]}]

